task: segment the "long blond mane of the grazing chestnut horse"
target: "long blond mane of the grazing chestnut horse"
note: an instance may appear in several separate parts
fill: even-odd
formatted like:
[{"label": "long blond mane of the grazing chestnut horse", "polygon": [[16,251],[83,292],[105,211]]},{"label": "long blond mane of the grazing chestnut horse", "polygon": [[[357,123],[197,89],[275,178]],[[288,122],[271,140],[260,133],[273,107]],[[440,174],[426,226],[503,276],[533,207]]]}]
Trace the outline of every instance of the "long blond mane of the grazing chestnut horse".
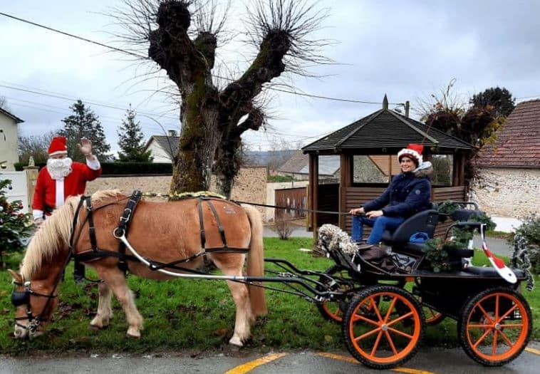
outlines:
[{"label": "long blond mane of the grazing chestnut horse", "polygon": [[[103,202],[119,195],[121,194],[118,189],[95,192],[92,195],[93,206],[97,202]],[[73,216],[80,199],[80,196],[68,197],[63,206],[56,209],[54,214],[41,224],[24,254],[21,264],[21,274],[24,279],[32,279],[33,274],[41,269],[43,261],[51,260],[55,254],[68,245]],[[79,220],[77,226],[80,224]]]}]

